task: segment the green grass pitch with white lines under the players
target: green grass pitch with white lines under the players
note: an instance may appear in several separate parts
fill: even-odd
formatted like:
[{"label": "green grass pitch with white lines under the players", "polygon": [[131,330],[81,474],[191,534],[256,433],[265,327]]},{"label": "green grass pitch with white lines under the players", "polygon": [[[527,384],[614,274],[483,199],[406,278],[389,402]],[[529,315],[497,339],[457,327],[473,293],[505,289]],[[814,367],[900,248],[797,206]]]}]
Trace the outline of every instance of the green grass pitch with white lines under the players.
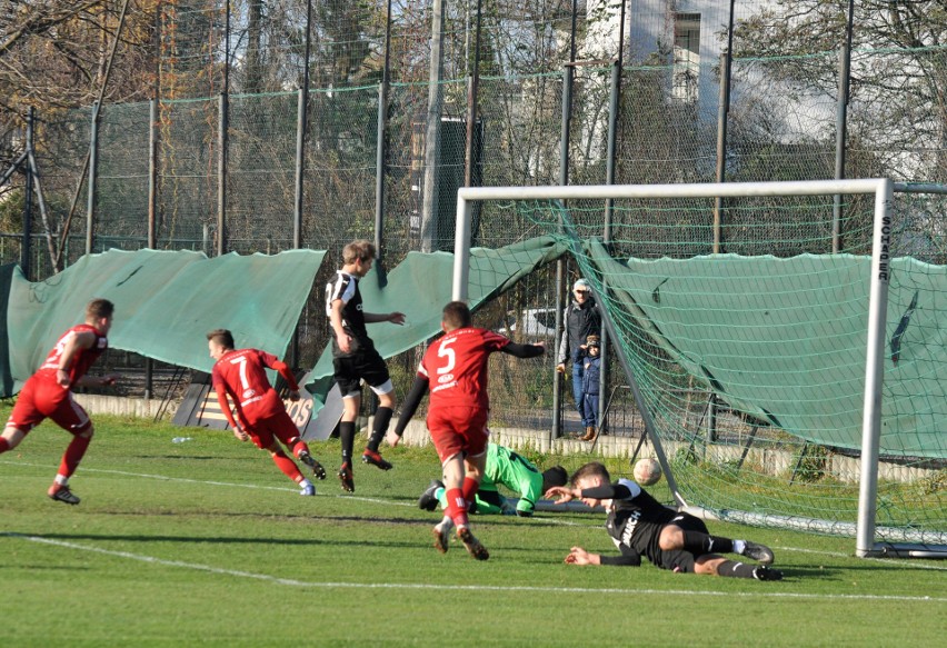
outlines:
[{"label": "green grass pitch with white lines under the players", "polygon": [[478,562],[431,547],[437,515],[416,504],[431,447],[388,449],[389,472],[359,463],[348,495],[338,442],[315,443],[329,478],[303,498],[229,432],[94,418],[77,507],[46,497],[66,432],[44,423],[0,456],[2,646],[901,647],[947,631],[947,565],[857,559],[850,538],[709,522],[775,549],[785,580],[757,582],[568,566],[574,545],[614,551],[604,516],[541,512],[475,517]]}]

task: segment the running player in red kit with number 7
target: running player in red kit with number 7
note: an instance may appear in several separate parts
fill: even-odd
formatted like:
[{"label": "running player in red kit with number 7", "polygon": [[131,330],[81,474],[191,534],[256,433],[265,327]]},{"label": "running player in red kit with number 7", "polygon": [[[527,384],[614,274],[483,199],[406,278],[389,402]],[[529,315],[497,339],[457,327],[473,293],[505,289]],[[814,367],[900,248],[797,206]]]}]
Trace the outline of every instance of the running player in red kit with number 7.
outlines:
[{"label": "running player in red kit with number 7", "polygon": [[[277,468],[302,488],[299,495],[316,495],[312,482],[303,477],[276,442],[276,439],[282,441],[297,459],[312,469],[317,479],[326,479],[326,470],[309,453],[309,446],[299,437],[299,430],[287,413],[286,406],[267,378],[266,368],[279,371],[289,385],[290,400],[299,400],[299,385],[289,367],[266,351],[235,350],[233,335],[227,329],[210,331],[207,340],[210,357],[217,360],[210,373],[211,381],[220,410],[233,428],[233,436],[241,441],[252,439],[258,448],[269,452]],[[236,418],[227,402],[228,396],[233,401]]]}]

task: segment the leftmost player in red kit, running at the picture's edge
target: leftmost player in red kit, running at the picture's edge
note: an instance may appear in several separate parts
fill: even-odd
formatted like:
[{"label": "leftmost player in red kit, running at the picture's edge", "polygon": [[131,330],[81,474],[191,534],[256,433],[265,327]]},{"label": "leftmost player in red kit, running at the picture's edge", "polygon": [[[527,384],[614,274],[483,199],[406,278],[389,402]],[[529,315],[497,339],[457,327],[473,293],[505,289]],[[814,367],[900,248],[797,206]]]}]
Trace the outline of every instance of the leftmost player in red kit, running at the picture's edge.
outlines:
[{"label": "leftmost player in red kit, running at the picture's edge", "polygon": [[69,490],[69,478],[76,472],[92,440],[92,421],[72,399],[71,388],[114,385],[116,376],[86,376],[96,359],[109,347],[106,336],[112,326],[113,311],[114,305],[108,299],[93,299],[86,306],[86,323],[66,331],[37,372],[30,376],[0,436],[2,453],[16,448],[46,418],[52,419],[72,435],[56,480],[47,492],[52,499],[64,504],[79,504],[79,498]]}]

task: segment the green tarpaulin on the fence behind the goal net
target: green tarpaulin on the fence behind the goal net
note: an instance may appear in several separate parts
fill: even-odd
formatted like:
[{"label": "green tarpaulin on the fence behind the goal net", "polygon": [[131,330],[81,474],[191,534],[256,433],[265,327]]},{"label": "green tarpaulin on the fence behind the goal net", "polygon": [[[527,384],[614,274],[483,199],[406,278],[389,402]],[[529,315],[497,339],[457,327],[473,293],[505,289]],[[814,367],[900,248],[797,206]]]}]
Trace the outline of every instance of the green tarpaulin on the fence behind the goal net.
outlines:
[{"label": "green tarpaulin on the fence behind the goal net", "polygon": [[[647,338],[734,409],[816,443],[861,447],[870,258],[721,255],[622,263],[597,242],[589,258],[606,281],[610,310],[622,313],[630,355],[642,357]],[[943,457],[947,268],[900,258],[891,277],[880,449]],[[640,367],[648,383],[654,363]],[[658,397],[655,403],[660,409]]]}]

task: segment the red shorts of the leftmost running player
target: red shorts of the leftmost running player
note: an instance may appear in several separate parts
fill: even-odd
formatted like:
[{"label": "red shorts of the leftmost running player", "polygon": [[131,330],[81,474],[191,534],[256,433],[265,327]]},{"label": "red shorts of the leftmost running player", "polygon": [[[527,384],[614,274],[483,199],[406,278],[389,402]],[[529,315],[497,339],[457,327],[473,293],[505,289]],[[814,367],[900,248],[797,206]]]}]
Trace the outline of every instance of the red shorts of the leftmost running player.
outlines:
[{"label": "red shorts of the leftmost running player", "polygon": [[27,380],[7,426],[26,433],[47,418],[73,435],[84,432],[92,425],[82,406],[72,400],[72,392],[56,381],[54,373],[34,375]]}]

